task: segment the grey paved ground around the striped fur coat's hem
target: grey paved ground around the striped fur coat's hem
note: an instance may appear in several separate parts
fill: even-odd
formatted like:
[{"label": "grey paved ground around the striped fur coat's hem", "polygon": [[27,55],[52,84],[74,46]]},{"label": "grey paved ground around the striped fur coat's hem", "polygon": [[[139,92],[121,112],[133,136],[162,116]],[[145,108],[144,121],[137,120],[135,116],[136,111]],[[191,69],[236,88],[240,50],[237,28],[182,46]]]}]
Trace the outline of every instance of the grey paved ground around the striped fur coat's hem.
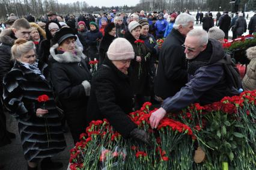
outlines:
[{"label": "grey paved ground around the striped fur coat's hem", "polygon": [[[26,170],[27,164],[23,156],[22,145],[20,144],[17,121],[7,115],[7,126],[10,132],[14,132],[16,134],[16,139],[14,139],[10,145],[0,148],[0,163],[5,165],[3,170]],[[69,164],[69,150],[73,147],[73,140],[70,132],[65,133],[65,138],[67,142],[66,150],[53,157],[53,160],[63,163],[64,166],[62,170],[67,169]]]}]

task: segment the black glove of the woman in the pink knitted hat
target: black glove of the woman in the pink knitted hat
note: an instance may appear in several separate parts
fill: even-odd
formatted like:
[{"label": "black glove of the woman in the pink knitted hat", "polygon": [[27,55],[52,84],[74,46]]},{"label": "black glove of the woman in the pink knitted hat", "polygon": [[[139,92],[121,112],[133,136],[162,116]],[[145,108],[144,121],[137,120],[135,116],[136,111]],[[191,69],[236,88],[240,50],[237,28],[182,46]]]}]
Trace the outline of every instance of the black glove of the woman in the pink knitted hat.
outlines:
[{"label": "black glove of the woman in the pink knitted hat", "polygon": [[150,136],[144,130],[135,128],[130,132],[130,137],[135,139],[137,142],[143,142],[147,145],[150,145]]}]

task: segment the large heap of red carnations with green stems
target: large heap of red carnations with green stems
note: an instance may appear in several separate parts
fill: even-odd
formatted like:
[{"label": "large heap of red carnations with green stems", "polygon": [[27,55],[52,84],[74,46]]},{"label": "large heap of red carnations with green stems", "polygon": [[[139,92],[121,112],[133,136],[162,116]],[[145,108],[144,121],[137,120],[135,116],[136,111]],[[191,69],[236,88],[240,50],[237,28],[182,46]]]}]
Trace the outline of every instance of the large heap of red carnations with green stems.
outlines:
[{"label": "large heap of red carnations with green stems", "polygon": [[[255,169],[255,105],[256,91],[245,91],[211,105],[187,106],[151,129],[156,109],[146,102],[130,118],[148,132],[150,146],[123,139],[108,120],[92,121],[70,150],[70,169]],[[203,163],[194,163],[195,145],[206,153]]]}]

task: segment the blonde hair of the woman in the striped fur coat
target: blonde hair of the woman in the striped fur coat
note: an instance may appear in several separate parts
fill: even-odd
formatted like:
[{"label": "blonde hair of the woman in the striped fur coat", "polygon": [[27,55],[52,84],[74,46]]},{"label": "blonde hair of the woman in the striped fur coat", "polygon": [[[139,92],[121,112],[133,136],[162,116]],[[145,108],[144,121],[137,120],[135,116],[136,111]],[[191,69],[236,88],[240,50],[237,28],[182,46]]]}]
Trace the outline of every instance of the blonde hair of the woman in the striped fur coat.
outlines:
[{"label": "blonde hair of the woman in the striped fur coat", "polygon": [[35,44],[24,38],[18,38],[11,47],[11,60],[20,58],[23,53],[27,53],[29,50],[35,50]]}]

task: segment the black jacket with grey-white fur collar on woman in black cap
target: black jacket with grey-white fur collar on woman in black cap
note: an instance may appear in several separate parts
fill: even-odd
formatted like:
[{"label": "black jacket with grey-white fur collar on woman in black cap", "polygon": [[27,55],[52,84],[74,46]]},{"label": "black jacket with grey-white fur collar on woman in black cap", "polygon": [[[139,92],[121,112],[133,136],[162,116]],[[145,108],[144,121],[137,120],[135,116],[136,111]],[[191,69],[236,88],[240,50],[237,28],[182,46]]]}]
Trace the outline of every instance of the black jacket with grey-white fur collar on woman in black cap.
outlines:
[{"label": "black jacket with grey-white fur collar on woman in black cap", "polygon": [[53,88],[56,91],[62,108],[66,112],[76,112],[84,108],[86,111],[84,80],[90,81],[90,73],[85,64],[85,55],[81,51],[77,55],[70,52],[57,52],[55,44],[50,48],[50,71]]}]

